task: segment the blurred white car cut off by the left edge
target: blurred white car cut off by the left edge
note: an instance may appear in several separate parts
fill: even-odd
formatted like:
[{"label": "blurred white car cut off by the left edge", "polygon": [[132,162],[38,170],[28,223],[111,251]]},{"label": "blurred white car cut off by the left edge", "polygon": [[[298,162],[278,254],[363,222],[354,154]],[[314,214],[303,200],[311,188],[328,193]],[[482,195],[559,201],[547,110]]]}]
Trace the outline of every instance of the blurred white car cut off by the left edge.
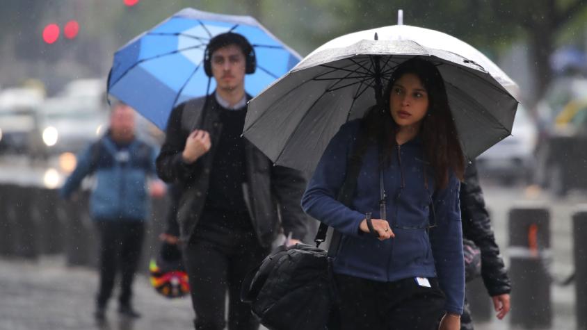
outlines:
[{"label": "blurred white car cut off by the left edge", "polygon": [[35,130],[35,108],[44,98],[40,90],[9,88],[0,92],[0,153],[25,154]]}]

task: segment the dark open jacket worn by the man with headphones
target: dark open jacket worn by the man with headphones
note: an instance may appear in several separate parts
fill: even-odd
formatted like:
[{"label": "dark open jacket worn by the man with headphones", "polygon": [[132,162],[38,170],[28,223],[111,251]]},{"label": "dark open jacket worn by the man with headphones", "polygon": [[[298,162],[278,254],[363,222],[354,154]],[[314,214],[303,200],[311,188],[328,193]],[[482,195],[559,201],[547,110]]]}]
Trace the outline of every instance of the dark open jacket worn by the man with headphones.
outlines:
[{"label": "dark open jacket worn by the man with headphones", "polygon": [[[205,109],[202,109],[206,106]],[[194,229],[206,201],[210,184],[210,172],[214,160],[222,124],[214,94],[192,99],[173,109],[166,130],[166,140],[156,160],[157,174],[168,183],[177,183],[180,190],[177,222],[182,240],[187,241]],[[203,119],[201,117],[203,115]],[[211,149],[188,165],[182,160],[186,138],[193,127],[201,127],[210,133]],[[306,186],[301,172],[287,167],[274,166],[257,147],[245,140],[246,187],[245,197],[253,228],[263,246],[280,233],[304,238],[307,216],[300,206]]]}]

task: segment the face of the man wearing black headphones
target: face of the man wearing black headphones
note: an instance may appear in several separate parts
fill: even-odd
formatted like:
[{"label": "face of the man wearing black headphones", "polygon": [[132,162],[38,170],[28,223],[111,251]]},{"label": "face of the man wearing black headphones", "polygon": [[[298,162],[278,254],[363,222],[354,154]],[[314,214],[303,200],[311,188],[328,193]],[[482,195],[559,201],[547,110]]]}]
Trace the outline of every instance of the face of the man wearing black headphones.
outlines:
[{"label": "face of the man wearing black headphones", "polygon": [[229,44],[212,53],[211,67],[216,85],[221,90],[243,88],[246,60],[241,47]]}]

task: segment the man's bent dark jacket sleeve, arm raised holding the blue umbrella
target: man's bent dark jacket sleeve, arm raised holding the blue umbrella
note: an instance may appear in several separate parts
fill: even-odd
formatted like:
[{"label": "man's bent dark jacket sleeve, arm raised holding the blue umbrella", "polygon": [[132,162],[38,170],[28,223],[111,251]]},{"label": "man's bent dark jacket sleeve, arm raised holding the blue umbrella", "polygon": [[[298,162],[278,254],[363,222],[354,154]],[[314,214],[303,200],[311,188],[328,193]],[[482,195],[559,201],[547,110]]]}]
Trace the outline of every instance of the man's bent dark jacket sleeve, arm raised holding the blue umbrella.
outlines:
[{"label": "man's bent dark jacket sleeve, arm raised holding the blue umbrella", "polygon": [[184,163],[182,152],[186,147],[188,135],[182,130],[182,113],[185,104],[175,107],[168,120],[165,142],[156,158],[156,171],[161,180],[167,183],[188,182],[198,170],[200,162]]}]

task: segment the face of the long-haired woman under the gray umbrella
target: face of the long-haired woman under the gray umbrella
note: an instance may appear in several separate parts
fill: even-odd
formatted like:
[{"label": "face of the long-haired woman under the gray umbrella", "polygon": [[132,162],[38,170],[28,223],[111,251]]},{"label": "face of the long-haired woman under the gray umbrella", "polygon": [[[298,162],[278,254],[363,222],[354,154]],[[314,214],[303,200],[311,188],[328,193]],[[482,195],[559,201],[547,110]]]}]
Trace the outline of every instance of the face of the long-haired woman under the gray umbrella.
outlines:
[{"label": "face of the long-haired woman under the gray umbrella", "polygon": [[400,127],[419,125],[428,112],[428,92],[415,74],[403,74],[392,86],[389,95],[392,117]]}]

